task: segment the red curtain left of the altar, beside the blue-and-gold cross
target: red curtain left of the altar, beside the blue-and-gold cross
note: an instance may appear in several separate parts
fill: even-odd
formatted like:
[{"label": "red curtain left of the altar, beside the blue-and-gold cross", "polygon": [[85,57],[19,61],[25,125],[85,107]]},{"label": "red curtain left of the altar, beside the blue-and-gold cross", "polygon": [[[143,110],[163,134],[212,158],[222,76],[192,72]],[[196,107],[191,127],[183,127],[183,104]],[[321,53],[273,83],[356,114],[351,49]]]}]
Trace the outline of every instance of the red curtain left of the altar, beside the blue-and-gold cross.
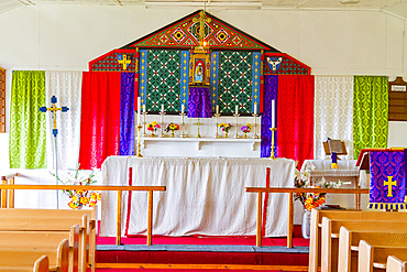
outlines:
[{"label": "red curtain left of the altar, beside the blue-and-gold cross", "polygon": [[119,154],[121,73],[84,72],[80,117],[80,168],[100,168]]}]

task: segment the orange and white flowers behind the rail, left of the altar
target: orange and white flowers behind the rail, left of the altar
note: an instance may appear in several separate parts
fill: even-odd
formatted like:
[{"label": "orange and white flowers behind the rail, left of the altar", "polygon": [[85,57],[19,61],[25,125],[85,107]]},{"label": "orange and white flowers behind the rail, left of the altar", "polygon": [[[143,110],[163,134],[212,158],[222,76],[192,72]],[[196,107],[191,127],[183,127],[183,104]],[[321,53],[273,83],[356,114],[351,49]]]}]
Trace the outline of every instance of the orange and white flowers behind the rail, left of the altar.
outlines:
[{"label": "orange and white flowers behind the rail, left of the altar", "polygon": [[[95,179],[95,172],[92,171],[88,176],[81,175],[79,171],[79,165],[74,174],[68,172],[66,177],[61,178],[59,176],[56,176],[56,178],[64,185],[88,186],[97,183],[97,181]],[[69,196],[70,202],[68,203],[68,206],[72,209],[77,209],[79,207],[94,207],[98,203],[98,200],[101,199],[101,195],[99,192],[87,189],[64,189],[63,192],[64,194]]]}]

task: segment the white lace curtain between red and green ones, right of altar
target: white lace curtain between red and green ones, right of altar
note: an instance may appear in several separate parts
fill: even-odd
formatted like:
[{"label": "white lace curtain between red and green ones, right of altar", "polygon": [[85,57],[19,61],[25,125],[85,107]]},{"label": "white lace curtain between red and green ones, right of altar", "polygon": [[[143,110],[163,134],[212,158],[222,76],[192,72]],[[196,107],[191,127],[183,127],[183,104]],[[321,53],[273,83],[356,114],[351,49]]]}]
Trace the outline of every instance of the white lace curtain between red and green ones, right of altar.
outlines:
[{"label": "white lace curtain between red and green ones, right of altar", "polygon": [[315,77],[315,159],[326,159],[328,138],[344,141],[353,159],[353,76]]}]

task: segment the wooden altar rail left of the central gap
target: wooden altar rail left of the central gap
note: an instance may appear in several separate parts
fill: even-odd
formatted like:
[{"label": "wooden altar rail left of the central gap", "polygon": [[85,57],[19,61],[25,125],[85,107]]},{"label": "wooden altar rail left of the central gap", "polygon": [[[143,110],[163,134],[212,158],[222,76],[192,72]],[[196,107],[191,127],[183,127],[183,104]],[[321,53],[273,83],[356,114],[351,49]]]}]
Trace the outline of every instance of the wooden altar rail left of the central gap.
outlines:
[{"label": "wooden altar rail left of the central gap", "polygon": [[[1,177],[2,181],[7,181],[7,178]],[[146,191],[148,192],[148,219],[147,219],[147,246],[152,246],[152,229],[153,229],[153,192],[158,191],[163,192],[166,191],[166,186],[98,186],[98,185],[15,185],[15,184],[1,184],[0,191],[2,195],[1,202],[3,203],[6,196],[7,202],[7,193],[9,191],[13,192],[14,189],[86,189],[86,191],[117,191],[118,192],[118,215],[117,215],[117,229],[116,229],[116,244],[121,244],[121,206],[122,206],[122,192],[123,191]],[[12,193],[14,194],[14,193]],[[13,198],[14,199],[14,198]],[[14,205],[11,204],[9,207],[13,207]],[[2,206],[3,208],[3,206]],[[6,208],[6,207],[4,207]]]}]

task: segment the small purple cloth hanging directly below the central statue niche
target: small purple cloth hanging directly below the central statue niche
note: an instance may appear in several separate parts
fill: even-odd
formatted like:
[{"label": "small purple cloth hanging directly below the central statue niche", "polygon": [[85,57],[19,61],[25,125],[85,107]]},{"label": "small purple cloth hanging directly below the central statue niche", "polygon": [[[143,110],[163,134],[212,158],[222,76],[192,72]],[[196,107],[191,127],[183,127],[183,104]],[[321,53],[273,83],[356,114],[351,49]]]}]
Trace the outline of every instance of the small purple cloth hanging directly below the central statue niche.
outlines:
[{"label": "small purple cloth hanging directly below the central statue niche", "polygon": [[188,96],[188,117],[189,118],[211,118],[212,110],[210,104],[209,88],[190,87]]}]

